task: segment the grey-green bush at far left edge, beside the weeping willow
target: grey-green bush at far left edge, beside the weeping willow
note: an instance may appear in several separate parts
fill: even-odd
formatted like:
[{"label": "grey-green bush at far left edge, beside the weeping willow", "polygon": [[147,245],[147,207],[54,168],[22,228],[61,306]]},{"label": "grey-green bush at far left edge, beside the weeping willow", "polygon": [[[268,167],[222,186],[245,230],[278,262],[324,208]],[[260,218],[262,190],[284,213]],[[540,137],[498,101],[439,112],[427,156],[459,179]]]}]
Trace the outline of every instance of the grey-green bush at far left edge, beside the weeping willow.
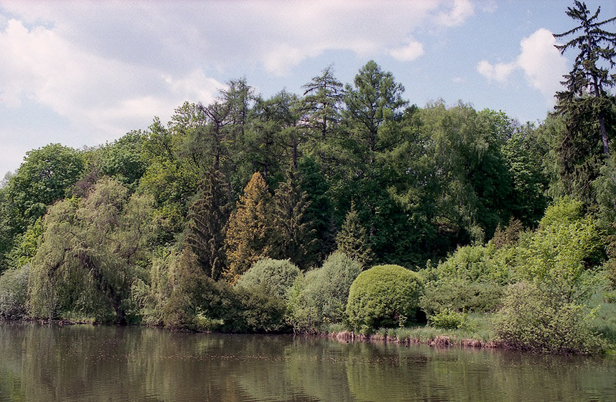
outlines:
[{"label": "grey-green bush at far left edge, beside the weeping willow", "polygon": [[0,276],[0,318],[21,319],[27,314],[29,265],[8,269]]}]

